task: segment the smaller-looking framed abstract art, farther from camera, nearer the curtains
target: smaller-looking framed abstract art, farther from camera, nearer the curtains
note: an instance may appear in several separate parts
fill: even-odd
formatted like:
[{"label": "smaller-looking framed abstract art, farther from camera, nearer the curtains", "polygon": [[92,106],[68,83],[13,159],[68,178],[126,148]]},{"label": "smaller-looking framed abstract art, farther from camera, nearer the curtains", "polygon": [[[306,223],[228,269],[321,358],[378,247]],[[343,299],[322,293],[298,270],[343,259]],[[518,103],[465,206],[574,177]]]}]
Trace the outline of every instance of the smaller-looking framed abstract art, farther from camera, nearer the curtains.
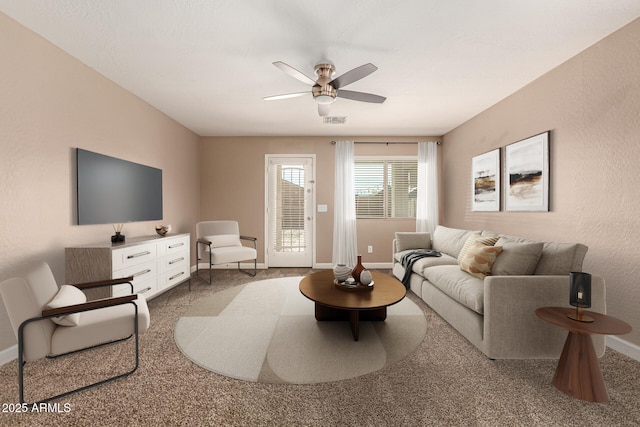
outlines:
[{"label": "smaller-looking framed abstract art, farther from camera, nearer the curtains", "polygon": [[500,149],[471,159],[471,210],[500,210]]}]

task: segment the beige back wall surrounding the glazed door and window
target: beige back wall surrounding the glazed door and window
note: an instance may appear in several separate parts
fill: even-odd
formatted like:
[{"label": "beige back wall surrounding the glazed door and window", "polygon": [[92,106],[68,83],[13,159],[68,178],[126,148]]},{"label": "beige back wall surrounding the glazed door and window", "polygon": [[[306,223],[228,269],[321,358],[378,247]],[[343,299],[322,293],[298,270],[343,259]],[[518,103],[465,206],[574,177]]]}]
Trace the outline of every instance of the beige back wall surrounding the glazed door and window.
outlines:
[{"label": "beige back wall surrounding the glazed door and window", "polygon": [[[266,154],[315,154],[316,263],[331,263],[333,249],[333,183],[335,146],[331,141],[427,141],[433,137],[208,137],[201,146],[201,211],[203,220],[237,219],[243,234],[256,236],[258,262],[264,262],[264,188]],[[415,144],[356,144],[356,156],[416,155]],[[358,249],[363,264],[391,262],[396,231],[415,230],[415,220],[358,221]],[[367,253],[372,245],[374,252]]]}]

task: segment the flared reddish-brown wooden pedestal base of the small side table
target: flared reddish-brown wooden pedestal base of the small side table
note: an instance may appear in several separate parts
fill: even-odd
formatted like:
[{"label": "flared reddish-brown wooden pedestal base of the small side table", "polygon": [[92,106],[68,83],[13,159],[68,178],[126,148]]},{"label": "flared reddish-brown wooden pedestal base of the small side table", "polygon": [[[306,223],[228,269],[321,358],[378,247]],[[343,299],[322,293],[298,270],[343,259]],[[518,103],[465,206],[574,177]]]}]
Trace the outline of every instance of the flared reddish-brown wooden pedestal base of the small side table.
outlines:
[{"label": "flared reddish-brown wooden pedestal base of the small side table", "polygon": [[609,400],[590,335],[569,332],[553,385],[570,396],[589,402]]}]

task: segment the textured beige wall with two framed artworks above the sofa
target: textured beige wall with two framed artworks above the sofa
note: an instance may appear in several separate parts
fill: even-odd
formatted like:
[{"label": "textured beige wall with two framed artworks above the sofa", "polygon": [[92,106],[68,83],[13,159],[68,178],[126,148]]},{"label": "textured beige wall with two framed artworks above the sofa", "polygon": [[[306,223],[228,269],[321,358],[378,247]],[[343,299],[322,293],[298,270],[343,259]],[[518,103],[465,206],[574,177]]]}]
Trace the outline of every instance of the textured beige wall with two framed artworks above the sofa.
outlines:
[{"label": "textured beige wall with two framed artworks above the sofa", "polygon": [[[445,135],[445,224],[589,246],[608,313],[640,345],[640,20]],[[551,131],[550,212],[471,212],[471,158]],[[503,199],[504,200],[504,199]]]}]

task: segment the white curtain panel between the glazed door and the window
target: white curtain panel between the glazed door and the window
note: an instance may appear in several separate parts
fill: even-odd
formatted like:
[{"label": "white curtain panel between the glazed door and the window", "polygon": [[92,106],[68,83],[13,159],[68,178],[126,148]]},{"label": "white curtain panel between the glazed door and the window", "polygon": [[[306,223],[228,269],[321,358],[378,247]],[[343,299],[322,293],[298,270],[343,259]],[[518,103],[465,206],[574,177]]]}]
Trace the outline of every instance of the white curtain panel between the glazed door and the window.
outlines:
[{"label": "white curtain panel between the glazed door and the window", "polygon": [[333,265],[355,267],[358,255],[353,141],[336,142],[333,213]]}]

